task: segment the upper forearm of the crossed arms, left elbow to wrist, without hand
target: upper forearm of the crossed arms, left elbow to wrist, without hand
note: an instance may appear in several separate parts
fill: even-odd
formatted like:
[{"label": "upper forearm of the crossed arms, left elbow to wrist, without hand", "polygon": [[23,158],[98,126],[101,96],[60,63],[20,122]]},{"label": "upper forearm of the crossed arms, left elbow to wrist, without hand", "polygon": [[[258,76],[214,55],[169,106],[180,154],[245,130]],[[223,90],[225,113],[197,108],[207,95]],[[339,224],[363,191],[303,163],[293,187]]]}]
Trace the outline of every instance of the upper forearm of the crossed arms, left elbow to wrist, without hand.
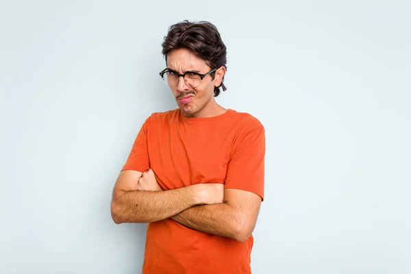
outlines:
[{"label": "upper forearm of the crossed arms, left elbow to wrist, without hand", "polygon": [[199,197],[191,187],[120,191],[114,193],[112,218],[116,223],[150,223],[167,219],[199,203]]}]

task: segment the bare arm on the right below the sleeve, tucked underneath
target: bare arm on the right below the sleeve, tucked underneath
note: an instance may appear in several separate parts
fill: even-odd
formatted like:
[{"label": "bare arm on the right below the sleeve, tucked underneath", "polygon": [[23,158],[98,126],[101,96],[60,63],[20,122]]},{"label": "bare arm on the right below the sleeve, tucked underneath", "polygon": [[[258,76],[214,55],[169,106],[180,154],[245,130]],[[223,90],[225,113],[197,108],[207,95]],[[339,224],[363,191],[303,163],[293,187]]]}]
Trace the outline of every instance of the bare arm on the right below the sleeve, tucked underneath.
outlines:
[{"label": "bare arm on the right below the sleeve, tucked underneath", "polygon": [[244,242],[256,226],[261,197],[253,192],[226,188],[224,202],[193,206],[172,218],[192,229]]}]

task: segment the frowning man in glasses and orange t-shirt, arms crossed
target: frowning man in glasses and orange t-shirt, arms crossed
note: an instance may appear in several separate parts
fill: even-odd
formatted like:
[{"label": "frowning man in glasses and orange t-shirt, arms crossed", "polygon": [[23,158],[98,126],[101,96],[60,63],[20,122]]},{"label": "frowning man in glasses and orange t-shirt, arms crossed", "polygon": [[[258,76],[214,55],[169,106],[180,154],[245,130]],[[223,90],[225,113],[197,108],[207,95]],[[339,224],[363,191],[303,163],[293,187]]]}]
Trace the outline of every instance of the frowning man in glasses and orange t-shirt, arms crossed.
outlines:
[{"label": "frowning man in glasses and orange t-shirt, arms crossed", "polygon": [[162,53],[178,108],[142,125],[114,186],[112,219],[149,223],[142,273],[251,273],[264,127],[214,99],[227,62],[214,25],[172,25]]}]

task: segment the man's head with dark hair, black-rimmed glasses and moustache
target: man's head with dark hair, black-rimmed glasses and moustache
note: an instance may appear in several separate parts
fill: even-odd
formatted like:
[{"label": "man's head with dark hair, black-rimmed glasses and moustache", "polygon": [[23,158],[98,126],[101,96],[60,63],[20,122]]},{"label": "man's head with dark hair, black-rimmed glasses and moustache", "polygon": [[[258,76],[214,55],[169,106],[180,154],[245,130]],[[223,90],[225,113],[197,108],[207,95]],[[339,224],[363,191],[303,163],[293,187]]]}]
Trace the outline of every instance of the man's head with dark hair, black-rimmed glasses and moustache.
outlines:
[{"label": "man's head with dark hair, black-rimmed glasses and moustache", "polygon": [[220,87],[226,90],[227,50],[211,23],[183,21],[172,25],[164,37],[162,53],[167,65],[162,76],[188,116],[215,103]]}]

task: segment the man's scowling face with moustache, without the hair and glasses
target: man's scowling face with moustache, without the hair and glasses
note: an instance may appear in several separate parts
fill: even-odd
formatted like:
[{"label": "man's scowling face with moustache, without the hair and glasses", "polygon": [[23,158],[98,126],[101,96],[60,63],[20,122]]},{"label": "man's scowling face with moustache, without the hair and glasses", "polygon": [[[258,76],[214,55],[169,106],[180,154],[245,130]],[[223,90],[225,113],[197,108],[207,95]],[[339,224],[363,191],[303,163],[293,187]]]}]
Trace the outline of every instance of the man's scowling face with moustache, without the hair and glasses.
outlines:
[{"label": "man's scowling face with moustache, without the hair and glasses", "polygon": [[[167,57],[167,68],[183,74],[186,71],[194,71],[206,74],[212,68],[197,55],[188,49],[173,49]],[[214,68],[213,68],[214,69]],[[196,88],[192,88],[179,77],[177,86],[171,86],[175,101],[185,116],[197,116],[208,103],[214,101],[214,83],[210,75],[207,75]],[[197,114],[197,115],[196,115]]]}]

